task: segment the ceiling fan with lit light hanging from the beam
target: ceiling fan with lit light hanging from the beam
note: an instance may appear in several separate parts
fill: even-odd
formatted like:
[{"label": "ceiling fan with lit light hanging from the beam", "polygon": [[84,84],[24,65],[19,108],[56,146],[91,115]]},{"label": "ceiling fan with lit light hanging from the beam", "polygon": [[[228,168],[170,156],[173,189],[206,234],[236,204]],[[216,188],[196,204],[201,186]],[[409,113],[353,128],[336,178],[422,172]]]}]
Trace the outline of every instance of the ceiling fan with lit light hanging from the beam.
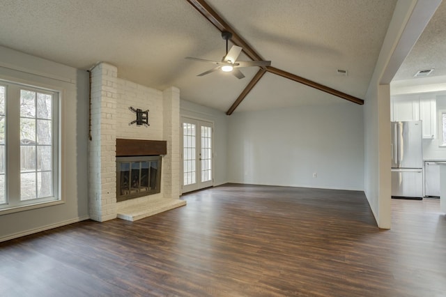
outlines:
[{"label": "ceiling fan with lit light hanging from the beam", "polygon": [[224,55],[221,62],[199,59],[199,58],[192,58],[192,56],[186,56],[185,59],[201,61],[201,62],[206,62],[206,63],[213,63],[213,64],[217,65],[217,67],[212,68],[212,69],[205,71],[203,73],[200,73],[197,76],[207,75],[209,73],[213,73],[214,71],[221,69],[222,71],[224,71],[226,73],[229,73],[229,72],[232,73],[233,76],[237,77],[238,79],[242,79],[243,77],[245,77],[245,75],[243,75],[243,73],[241,73],[241,71],[238,70],[237,68],[252,67],[252,66],[270,66],[271,65],[271,61],[237,61],[237,58],[240,55],[240,52],[242,52],[242,47],[233,45],[231,47],[231,50],[229,50],[229,52],[228,52],[228,40],[232,38],[232,33],[228,32],[228,31],[223,31],[222,38],[224,40],[226,40],[226,54]]}]

